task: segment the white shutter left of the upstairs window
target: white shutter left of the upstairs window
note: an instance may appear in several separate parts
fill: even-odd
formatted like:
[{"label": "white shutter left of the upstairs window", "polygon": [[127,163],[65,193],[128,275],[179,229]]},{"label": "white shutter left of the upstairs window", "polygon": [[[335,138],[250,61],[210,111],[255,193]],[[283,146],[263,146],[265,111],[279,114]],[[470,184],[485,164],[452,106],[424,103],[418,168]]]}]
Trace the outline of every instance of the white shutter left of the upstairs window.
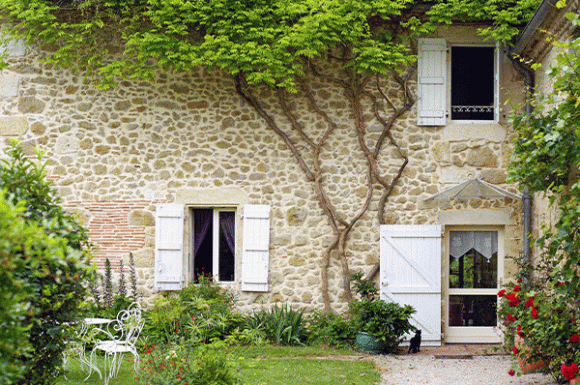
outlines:
[{"label": "white shutter left of the upstairs window", "polygon": [[444,39],[419,39],[418,53],[417,124],[444,126],[447,44]]}]

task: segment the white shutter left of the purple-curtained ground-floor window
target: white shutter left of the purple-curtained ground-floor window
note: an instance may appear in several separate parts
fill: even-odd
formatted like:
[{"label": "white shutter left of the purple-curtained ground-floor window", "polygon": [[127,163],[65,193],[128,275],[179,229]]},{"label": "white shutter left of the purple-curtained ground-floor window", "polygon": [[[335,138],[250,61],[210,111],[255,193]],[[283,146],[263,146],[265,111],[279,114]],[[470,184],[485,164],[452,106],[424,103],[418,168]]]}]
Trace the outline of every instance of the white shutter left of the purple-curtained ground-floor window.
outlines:
[{"label": "white shutter left of the purple-curtained ground-floor window", "polygon": [[155,289],[181,290],[184,205],[157,204],[155,209]]}]

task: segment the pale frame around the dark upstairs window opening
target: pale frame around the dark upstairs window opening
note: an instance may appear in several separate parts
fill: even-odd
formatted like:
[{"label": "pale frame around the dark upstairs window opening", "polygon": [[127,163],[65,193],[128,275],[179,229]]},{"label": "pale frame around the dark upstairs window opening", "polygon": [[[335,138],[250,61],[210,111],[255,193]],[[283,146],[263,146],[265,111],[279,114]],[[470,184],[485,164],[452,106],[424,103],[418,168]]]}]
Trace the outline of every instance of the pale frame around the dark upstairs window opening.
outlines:
[{"label": "pale frame around the dark upstairs window opening", "polygon": [[[452,87],[451,84],[453,82],[453,77],[452,77],[452,68],[451,68],[451,51],[453,47],[494,47],[494,57],[493,57],[493,76],[494,76],[494,96],[493,96],[493,100],[494,100],[494,111],[493,111],[493,120],[453,120],[451,117],[452,112],[451,112],[451,98],[452,98]],[[500,106],[499,106],[499,102],[500,102],[500,98],[499,98],[499,92],[500,92],[500,88],[499,88],[499,68],[500,68],[500,46],[499,43],[496,44],[485,44],[485,43],[453,43],[453,42],[447,42],[447,79],[449,79],[449,81],[447,82],[447,90],[446,90],[446,100],[447,100],[447,124],[498,124],[499,123],[499,110],[500,110]]]}]

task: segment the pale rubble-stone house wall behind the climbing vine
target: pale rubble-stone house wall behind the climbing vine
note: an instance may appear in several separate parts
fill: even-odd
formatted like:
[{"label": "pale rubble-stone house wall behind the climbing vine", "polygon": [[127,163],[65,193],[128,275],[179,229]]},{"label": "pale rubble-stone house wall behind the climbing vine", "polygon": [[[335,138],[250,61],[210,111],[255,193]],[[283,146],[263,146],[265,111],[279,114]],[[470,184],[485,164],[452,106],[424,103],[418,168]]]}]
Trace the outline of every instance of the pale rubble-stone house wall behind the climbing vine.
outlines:
[{"label": "pale rubble-stone house wall behind the climbing vine", "polygon": [[[436,37],[456,44],[482,43],[468,27],[442,30]],[[7,49],[10,67],[0,73],[0,135],[6,139],[2,146],[17,137],[28,154],[33,149],[46,152],[48,178],[67,209],[78,213],[88,227],[97,246],[97,266],[102,268],[105,258],[113,266],[123,259],[127,266],[133,253],[139,288],[150,298],[155,294],[156,204],[236,210],[237,245],[244,241],[244,205],[270,205],[269,289],[240,291],[240,306],[249,310],[281,302],[321,309],[321,251],[331,241],[331,228],[291,152],[236,95],[227,75],[201,69],[190,74],[160,73],[154,82],[123,81],[117,89],[104,92],[85,82],[82,74],[43,64],[42,53],[33,47],[12,44]],[[521,102],[520,76],[503,54],[500,63],[502,103]],[[352,116],[341,91],[322,83],[313,88],[339,122],[322,155],[325,187],[341,212],[352,216],[367,191]],[[260,97],[282,121],[281,112],[274,108],[275,95],[262,89]],[[298,98],[291,102],[308,111]],[[409,163],[389,199],[387,219],[390,224],[441,224],[446,230],[501,228],[509,276],[521,254],[520,201],[426,200],[469,177],[519,194],[516,186],[505,182],[513,132],[505,119],[509,106],[502,108],[499,122],[493,124],[418,126],[414,111],[405,115],[393,136]],[[310,130],[322,124],[311,111],[301,119]],[[372,117],[367,127],[371,137],[373,130],[378,135]],[[384,152],[381,167],[396,170],[400,157],[392,148]],[[378,195],[351,233],[347,254],[351,270],[368,272],[379,261],[377,199]],[[186,233],[190,232],[186,226]],[[447,247],[444,241],[444,303]],[[186,249],[190,248],[186,242]],[[188,255],[184,255],[186,265]],[[192,269],[190,264],[185,269],[186,281],[191,280]],[[329,277],[333,305],[345,310],[336,258],[331,260]],[[238,281],[232,286],[240,290]]]}]

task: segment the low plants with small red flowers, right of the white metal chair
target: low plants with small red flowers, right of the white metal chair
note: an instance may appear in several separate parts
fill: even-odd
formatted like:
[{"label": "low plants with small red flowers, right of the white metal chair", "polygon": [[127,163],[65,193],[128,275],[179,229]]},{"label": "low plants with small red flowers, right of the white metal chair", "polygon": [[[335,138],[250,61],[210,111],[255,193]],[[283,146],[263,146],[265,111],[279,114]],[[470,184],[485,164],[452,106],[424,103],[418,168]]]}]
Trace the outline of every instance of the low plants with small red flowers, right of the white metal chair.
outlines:
[{"label": "low plants with small red flowers, right of the white metal chair", "polygon": [[223,342],[208,345],[146,345],[137,373],[145,385],[242,384],[237,360]]}]

